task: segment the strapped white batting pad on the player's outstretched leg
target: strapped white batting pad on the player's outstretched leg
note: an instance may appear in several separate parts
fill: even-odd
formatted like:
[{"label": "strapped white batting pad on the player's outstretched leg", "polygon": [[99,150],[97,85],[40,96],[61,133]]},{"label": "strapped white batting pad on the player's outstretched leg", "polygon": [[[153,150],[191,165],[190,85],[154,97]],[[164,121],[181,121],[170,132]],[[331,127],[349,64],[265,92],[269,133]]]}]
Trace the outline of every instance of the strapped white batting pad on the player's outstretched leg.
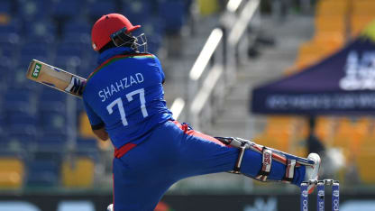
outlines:
[{"label": "strapped white batting pad on the player's outstretched leg", "polygon": [[282,181],[291,182],[294,178],[295,168],[299,168],[301,165],[312,166],[315,164],[314,161],[308,160],[306,158],[297,157],[292,154],[288,154],[284,151],[278,151],[270,147],[262,146],[255,142],[249,140],[244,140],[237,137],[215,137],[220,142],[223,142],[225,145],[232,146],[240,149],[237,161],[235,163],[234,169],[231,171],[235,174],[241,174],[241,163],[243,159],[243,154],[245,150],[257,151],[262,154],[262,166],[258,175],[254,179],[261,181],[267,181],[268,176],[270,175],[270,169],[272,167],[272,162],[277,161],[286,166],[286,173]]}]

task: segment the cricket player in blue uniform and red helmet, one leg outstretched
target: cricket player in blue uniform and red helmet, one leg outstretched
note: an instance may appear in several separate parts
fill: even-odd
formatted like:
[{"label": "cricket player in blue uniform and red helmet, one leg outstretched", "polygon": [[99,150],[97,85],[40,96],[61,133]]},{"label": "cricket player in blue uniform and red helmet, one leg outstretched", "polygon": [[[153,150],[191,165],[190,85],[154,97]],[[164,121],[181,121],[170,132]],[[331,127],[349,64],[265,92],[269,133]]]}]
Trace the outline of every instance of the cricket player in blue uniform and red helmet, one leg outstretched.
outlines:
[{"label": "cricket player in blue uniform and red helmet, one leg outstretched", "polygon": [[[180,179],[232,172],[299,186],[317,179],[320,158],[300,158],[255,142],[212,137],[172,118],[164,100],[164,73],[155,55],[142,51],[122,14],[105,14],[91,38],[98,66],[87,78],[83,101],[93,132],[114,145],[114,211],[151,211]],[[308,190],[312,192],[314,185]]]}]

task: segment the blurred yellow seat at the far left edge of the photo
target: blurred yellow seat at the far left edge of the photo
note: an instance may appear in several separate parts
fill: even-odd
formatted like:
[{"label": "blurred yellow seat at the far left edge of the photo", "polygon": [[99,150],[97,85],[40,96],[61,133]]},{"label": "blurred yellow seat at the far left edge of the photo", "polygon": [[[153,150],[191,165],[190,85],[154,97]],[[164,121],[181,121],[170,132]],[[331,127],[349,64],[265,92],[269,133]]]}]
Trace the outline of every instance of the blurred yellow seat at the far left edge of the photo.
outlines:
[{"label": "blurred yellow seat at the far left edge of the photo", "polygon": [[22,188],[23,178],[23,161],[15,157],[0,157],[0,189]]}]

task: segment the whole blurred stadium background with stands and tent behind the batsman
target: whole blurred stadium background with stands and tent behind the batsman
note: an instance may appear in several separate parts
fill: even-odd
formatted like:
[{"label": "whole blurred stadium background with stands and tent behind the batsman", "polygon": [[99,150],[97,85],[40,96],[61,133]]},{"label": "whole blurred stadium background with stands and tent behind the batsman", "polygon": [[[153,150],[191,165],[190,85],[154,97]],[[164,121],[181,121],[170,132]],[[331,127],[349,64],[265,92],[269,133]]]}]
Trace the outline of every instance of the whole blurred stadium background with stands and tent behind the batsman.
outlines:
[{"label": "whole blurred stadium background with stands and tent behind the batsman", "polygon": [[[374,11],[374,0],[0,0],[0,210],[111,203],[111,143],[96,140],[78,98],[25,78],[32,59],[87,78],[91,27],[109,13],[142,24],[179,122],[298,156],[316,151],[323,178],[340,180],[342,210],[373,210]],[[357,86],[340,87],[344,77]],[[305,98],[277,98],[290,93]],[[179,181],[157,210],[298,210],[298,191],[212,174]]]}]

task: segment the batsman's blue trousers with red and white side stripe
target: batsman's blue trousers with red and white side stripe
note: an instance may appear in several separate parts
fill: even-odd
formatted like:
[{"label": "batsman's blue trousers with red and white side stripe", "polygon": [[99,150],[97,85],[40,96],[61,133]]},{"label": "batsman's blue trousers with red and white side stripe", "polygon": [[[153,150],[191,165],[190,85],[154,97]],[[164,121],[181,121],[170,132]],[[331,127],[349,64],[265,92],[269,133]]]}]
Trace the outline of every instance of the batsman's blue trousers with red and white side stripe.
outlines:
[{"label": "batsman's blue trousers with red and white side stripe", "polygon": [[[234,170],[239,152],[187,124],[163,124],[147,141],[114,159],[114,211],[153,210],[179,179]],[[247,149],[242,157],[242,174],[259,175],[261,153]],[[286,170],[285,164],[275,161],[268,179],[281,180]],[[299,185],[304,175],[305,168],[296,168],[292,183]]]}]

